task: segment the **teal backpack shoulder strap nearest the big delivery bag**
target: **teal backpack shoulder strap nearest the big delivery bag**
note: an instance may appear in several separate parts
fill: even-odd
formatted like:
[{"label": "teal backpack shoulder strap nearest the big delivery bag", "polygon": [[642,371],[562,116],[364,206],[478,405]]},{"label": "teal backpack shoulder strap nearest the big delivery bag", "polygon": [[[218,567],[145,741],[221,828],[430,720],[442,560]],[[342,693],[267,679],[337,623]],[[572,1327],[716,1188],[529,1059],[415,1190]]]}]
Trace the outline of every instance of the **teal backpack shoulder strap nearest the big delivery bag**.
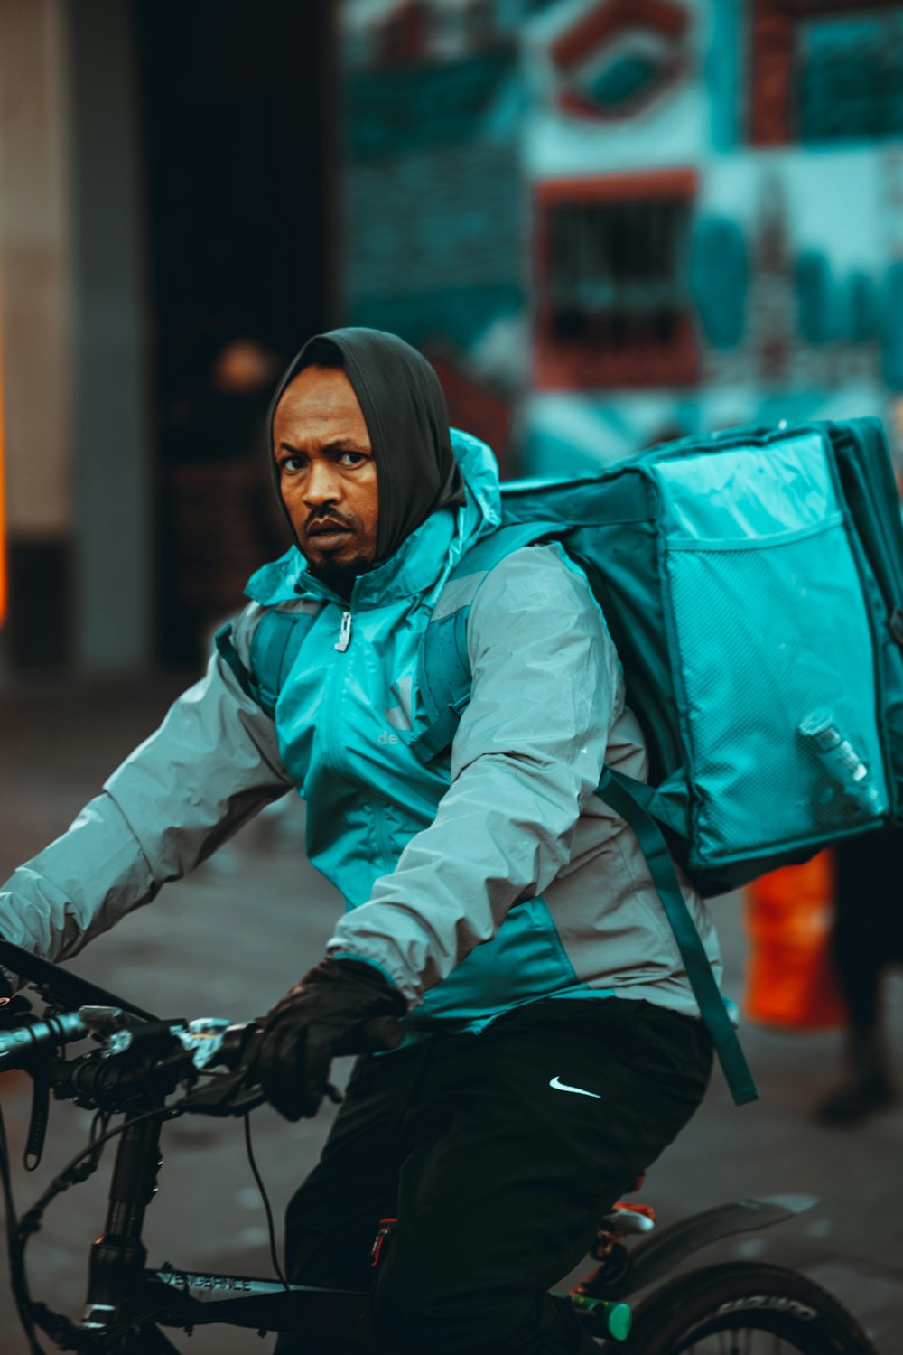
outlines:
[{"label": "teal backpack shoulder strap nearest the big delivery bag", "polygon": [[420,650],[417,690],[428,725],[410,747],[421,762],[429,763],[448,748],[470,701],[467,618],[486,576],[514,550],[560,537],[562,530],[560,522],[519,522],[500,527],[471,546],[445,580]]}]

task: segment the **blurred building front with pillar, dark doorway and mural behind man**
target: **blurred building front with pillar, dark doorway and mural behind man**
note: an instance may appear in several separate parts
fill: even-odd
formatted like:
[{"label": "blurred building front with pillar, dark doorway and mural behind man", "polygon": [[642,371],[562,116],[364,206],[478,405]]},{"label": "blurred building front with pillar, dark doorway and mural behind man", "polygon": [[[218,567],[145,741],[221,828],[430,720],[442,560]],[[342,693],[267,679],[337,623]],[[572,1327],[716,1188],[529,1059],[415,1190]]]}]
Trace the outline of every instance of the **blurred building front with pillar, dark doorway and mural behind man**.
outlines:
[{"label": "blurred building front with pillar, dark doorway and mural behind man", "polygon": [[504,473],[876,413],[903,453],[903,4],[0,0],[0,664],[196,667],[286,545],[336,324]]}]

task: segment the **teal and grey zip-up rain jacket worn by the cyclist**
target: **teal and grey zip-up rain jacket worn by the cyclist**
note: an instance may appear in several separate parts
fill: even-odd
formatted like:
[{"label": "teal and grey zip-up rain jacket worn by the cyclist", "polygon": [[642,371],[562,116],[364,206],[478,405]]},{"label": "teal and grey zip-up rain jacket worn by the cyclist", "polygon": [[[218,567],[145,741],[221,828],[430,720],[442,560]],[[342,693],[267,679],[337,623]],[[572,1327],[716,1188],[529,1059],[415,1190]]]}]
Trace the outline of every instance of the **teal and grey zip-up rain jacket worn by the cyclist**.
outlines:
[{"label": "teal and grey zip-up rain jacket worn by the cyclist", "polygon": [[[424,627],[437,602],[454,608],[448,573],[501,516],[489,449],[466,434],[454,447],[467,505],[428,518],[349,603],[295,549],[255,575],[234,626],[245,661],[264,608],[313,615],[275,718],[214,656],[68,833],[15,873],[0,934],[74,954],[295,787],[309,858],[345,898],[328,951],[379,966],[412,1005],[412,1035],[437,1020],[478,1030],[546,996],[697,1012],[636,839],[594,795],[604,762],[644,778],[646,753],[604,618],[558,546],[487,576],[451,752],[425,767],[409,748]],[[708,913],[688,883],[685,896],[718,967]]]}]

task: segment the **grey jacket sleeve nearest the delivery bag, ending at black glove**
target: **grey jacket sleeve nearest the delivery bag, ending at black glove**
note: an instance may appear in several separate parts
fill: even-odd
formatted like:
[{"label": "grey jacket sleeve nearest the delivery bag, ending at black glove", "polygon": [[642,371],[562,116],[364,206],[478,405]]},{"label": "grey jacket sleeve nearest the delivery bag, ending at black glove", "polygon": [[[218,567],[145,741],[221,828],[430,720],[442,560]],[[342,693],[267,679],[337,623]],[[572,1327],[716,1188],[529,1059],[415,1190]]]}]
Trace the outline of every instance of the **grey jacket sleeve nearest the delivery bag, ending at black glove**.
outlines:
[{"label": "grey jacket sleeve nearest the delivery bag, ending at black glove", "polygon": [[567,863],[623,706],[601,611],[558,546],[514,551],[491,570],[467,646],[471,699],[436,818],[328,946],[380,966],[412,1004]]}]

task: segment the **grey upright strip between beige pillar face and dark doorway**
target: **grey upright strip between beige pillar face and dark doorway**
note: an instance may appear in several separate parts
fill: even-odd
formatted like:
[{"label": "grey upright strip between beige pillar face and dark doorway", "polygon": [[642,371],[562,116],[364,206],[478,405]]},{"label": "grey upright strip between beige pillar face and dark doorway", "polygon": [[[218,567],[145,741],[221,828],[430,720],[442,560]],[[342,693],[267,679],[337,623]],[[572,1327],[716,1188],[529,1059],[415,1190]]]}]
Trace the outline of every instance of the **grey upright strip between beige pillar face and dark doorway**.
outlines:
[{"label": "grey upright strip between beige pillar face and dark doorway", "polygon": [[73,221],[74,664],[149,661],[153,491],[131,5],[69,5]]}]

